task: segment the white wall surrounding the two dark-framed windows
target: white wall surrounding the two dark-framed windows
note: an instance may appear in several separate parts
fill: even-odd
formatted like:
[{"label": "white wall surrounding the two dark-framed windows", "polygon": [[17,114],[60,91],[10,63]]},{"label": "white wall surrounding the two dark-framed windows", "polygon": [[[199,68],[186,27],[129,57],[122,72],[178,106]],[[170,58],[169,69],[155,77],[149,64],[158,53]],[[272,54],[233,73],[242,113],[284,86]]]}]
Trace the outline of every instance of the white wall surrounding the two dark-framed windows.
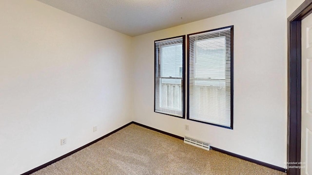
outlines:
[{"label": "white wall surrounding the two dark-framed windows", "polygon": [[[286,0],[133,38],[134,121],[279,167],[287,149]],[[234,25],[234,129],[154,112],[154,40]],[[184,125],[189,124],[189,131]]]}]

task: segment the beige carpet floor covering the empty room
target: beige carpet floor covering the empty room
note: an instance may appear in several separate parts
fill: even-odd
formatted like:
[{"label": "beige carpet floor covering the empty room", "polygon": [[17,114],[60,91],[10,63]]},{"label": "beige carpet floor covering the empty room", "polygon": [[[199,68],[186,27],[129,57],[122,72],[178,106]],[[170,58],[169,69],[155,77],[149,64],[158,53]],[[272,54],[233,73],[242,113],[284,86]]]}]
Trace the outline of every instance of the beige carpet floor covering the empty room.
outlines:
[{"label": "beige carpet floor covering the empty room", "polygon": [[131,124],[32,175],[286,175]]}]

